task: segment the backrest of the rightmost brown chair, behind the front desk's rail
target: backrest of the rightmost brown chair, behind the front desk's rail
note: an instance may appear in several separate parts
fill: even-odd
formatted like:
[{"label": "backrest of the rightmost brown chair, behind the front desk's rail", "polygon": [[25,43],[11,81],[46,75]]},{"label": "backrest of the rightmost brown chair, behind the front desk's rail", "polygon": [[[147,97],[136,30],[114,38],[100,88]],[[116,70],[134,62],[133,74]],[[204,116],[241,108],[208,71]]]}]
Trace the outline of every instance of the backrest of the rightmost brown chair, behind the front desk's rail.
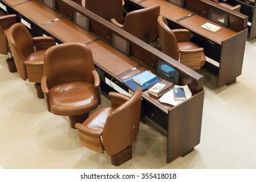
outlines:
[{"label": "backrest of the rightmost brown chair, behind the front desk's rail", "polygon": [[167,19],[164,16],[159,16],[157,18],[158,23],[158,34],[159,34],[159,44],[161,45],[161,51],[172,57],[172,59],[180,59],[180,51],[176,36],[174,32],[168,27]]}]

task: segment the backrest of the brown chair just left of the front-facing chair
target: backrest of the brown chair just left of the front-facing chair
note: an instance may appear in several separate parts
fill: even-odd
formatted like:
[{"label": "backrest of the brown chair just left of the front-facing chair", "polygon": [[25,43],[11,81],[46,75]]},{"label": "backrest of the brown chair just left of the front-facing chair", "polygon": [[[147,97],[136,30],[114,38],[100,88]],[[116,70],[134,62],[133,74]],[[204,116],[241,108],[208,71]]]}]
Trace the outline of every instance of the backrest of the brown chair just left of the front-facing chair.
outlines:
[{"label": "backrest of the brown chair just left of the front-facing chair", "polygon": [[26,80],[27,73],[24,60],[34,51],[32,36],[25,25],[15,23],[8,29],[7,38],[18,73],[22,79]]}]

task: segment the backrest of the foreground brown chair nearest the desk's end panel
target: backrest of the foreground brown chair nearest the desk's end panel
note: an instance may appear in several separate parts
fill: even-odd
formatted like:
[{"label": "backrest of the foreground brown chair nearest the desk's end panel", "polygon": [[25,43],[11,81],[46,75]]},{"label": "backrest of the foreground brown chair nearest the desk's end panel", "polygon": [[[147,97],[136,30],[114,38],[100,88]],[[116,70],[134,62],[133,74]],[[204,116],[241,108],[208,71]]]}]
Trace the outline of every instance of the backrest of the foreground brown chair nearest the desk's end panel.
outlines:
[{"label": "backrest of the foreground brown chair nearest the desk's end panel", "polygon": [[141,97],[142,91],[137,88],[128,101],[106,118],[102,140],[108,155],[119,153],[135,142],[140,126]]}]

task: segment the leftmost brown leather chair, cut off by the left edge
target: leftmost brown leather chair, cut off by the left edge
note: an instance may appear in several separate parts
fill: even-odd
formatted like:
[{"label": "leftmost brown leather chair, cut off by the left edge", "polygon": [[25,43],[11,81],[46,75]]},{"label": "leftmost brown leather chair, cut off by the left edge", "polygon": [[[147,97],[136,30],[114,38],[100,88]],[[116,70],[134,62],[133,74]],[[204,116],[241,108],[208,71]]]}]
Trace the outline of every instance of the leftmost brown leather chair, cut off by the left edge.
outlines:
[{"label": "leftmost brown leather chair, cut off by the left edge", "polygon": [[[16,14],[9,14],[0,16],[0,54],[8,55],[10,53],[10,47],[8,45],[7,34],[8,29],[16,23]],[[7,59],[8,70],[11,73],[17,72],[17,68],[14,60],[12,59],[12,54]]]}]

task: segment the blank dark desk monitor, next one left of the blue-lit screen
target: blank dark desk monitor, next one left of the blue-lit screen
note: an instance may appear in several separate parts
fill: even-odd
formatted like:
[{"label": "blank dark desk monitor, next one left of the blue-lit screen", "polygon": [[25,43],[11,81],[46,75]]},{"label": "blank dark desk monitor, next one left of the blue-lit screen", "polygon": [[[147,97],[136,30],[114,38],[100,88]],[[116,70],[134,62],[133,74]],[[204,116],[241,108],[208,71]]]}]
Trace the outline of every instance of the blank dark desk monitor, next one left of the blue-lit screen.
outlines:
[{"label": "blank dark desk monitor, next one left of the blue-lit screen", "polygon": [[125,55],[130,55],[130,43],[115,33],[112,33],[112,46],[125,53]]}]

